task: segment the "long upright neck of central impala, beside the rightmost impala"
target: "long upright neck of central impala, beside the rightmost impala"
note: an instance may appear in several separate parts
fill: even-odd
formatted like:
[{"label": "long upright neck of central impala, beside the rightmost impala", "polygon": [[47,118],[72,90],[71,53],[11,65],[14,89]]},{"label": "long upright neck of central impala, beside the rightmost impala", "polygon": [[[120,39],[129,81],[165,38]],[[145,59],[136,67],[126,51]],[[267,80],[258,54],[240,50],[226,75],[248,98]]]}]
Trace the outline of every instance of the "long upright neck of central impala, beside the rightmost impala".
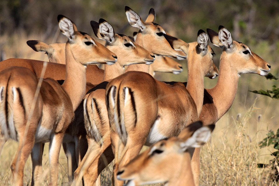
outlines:
[{"label": "long upright neck of central impala, beside the rightmost impala", "polygon": [[200,62],[188,55],[188,79],[186,89],[189,91],[197,106],[198,116],[203,107],[204,72]]}]

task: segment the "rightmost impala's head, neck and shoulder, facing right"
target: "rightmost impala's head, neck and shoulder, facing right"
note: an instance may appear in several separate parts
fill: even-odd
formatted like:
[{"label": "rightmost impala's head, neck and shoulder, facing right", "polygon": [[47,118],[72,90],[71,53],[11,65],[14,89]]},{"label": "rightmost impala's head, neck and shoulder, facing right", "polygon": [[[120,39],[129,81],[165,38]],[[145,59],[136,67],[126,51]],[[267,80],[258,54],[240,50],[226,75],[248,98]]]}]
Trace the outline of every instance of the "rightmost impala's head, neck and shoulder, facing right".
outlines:
[{"label": "rightmost impala's head, neck and shoulder, facing right", "polygon": [[204,90],[203,108],[199,119],[204,125],[215,124],[231,107],[236,96],[240,74],[267,75],[271,66],[219,26],[219,34],[207,29],[210,41],[223,49],[220,57],[220,76],[215,87]]}]

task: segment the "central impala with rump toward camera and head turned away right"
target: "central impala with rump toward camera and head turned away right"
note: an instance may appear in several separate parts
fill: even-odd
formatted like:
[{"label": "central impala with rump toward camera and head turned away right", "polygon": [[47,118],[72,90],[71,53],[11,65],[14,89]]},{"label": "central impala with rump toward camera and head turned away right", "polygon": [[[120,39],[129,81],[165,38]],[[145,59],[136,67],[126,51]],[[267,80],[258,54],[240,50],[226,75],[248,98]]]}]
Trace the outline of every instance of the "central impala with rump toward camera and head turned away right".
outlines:
[{"label": "central impala with rump toward camera and head turned away right", "polygon": [[[207,45],[208,36],[203,30],[198,32],[198,42],[179,42],[188,54],[186,87],[180,82],[157,81],[143,72],[127,72],[107,85],[106,102],[116,162],[114,176],[118,165],[127,164],[144,144],[177,136],[183,128],[198,120],[203,105],[204,76],[215,78],[218,75],[218,71],[214,71],[214,52]],[[177,42],[172,43],[178,46]],[[193,154],[193,149],[191,151]],[[198,153],[194,154],[196,164],[199,163]]]}]

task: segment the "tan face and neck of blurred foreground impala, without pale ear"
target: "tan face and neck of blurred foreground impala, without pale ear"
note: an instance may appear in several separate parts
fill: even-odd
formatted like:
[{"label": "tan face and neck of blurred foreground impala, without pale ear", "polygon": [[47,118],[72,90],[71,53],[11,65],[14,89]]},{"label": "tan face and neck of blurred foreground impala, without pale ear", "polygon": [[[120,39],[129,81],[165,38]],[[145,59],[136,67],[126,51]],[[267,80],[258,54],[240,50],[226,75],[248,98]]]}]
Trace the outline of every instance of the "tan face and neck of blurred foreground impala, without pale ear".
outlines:
[{"label": "tan face and neck of blurred foreground impala, without pale ear", "polygon": [[[191,124],[191,127],[196,127],[195,130],[201,126],[202,124],[198,122]],[[212,128],[208,130],[212,131]],[[171,137],[155,143],[120,168],[117,178],[129,180],[128,185],[164,183],[166,186],[193,186],[191,155],[188,150],[191,146],[185,148],[183,143],[191,138],[194,131],[187,127],[181,131],[178,137]],[[197,139],[193,138],[191,141],[196,143],[194,140]]]}]

